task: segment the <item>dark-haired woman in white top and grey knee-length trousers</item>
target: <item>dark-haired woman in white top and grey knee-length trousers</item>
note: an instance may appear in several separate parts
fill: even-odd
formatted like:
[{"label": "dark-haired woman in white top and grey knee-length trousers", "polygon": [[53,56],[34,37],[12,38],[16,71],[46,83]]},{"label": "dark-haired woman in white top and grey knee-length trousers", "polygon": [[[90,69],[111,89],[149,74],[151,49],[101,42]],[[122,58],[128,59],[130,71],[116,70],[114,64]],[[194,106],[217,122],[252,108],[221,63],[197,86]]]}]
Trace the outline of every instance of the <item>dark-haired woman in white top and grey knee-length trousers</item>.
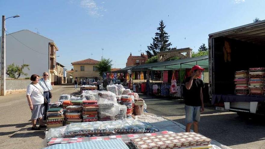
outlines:
[{"label": "dark-haired woman in white top and grey knee-length trousers", "polygon": [[[31,130],[40,130],[40,128],[46,128],[47,126],[43,124],[42,114],[44,110],[44,97],[43,97],[43,89],[39,85],[39,76],[33,74],[30,77],[32,81],[30,85],[27,87],[27,99],[31,110],[31,122],[32,128]],[[39,127],[36,126],[36,120],[39,119]]]}]

